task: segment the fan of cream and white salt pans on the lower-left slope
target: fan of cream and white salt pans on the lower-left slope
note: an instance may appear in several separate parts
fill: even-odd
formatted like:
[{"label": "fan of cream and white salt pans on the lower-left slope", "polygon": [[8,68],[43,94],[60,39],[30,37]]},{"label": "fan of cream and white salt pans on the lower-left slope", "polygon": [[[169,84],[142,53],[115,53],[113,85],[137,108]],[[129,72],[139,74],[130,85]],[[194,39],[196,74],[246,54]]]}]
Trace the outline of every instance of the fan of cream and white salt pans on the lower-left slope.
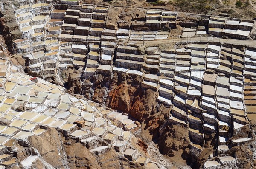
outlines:
[{"label": "fan of cream and white salt pans on the lower-left slope", "polygon": [[[12,167],[17,164],[10,149],[20,141],[27,141],[32,135],[41,135],[47,128],[55,127],[72,139],[78,139],[90,152],[100,154],[110,147],[131,161],[144,166],[161,166],[145,158],[130,144],[134,137],[129,130],[137,127],[127,115],[115,112],[87,99],[65,93],[64,87],[51,84],[40,78],[20,74],[9,60],[0,60],[1,83],[0,118],[0,166]],[[23,111],[18,111],[24,108]],[[80,123],[79,121],[84,121]],[[76,124],[81,124],[79,128]],[[122,128],[115,124],[122,124]],[[106,141],[107,145],[102,145]],[[98,143],[98,144],[96,144]],[[21,164],[35,161],[30,156]],[[142,160],[144,159],[144,161]]]}]

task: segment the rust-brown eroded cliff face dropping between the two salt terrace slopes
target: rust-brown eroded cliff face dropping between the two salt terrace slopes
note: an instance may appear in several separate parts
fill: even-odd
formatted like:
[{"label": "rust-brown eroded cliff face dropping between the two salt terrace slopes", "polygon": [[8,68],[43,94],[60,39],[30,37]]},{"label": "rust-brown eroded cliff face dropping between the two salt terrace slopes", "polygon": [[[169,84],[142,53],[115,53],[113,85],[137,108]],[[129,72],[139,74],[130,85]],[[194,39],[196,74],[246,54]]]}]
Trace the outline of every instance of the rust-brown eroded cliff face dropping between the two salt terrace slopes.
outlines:
[{"label": "rust-brown eroded cliff face dropping between the two salt terrace slopes", "polygon": [[[127,73],[113,73],[112,77],[99,74],[83,81],[81,94],[114,110],[127,113],[140,123],[142,131],[138,137],[143,142],[152,140],[158,145],[157,151],[161,154],[169,157],[176,155],[181,159],[183,150],[189,144],[188,128],[169,124],[168,118],[172,108],[159,103],[158,92],[142,87],[142,82],[141,76],[131,76]],[[144,150],[147,152],[148,145],[145,142]],[[177,166],[182,165],[186,166],[186,163],[177,163]]]}]

